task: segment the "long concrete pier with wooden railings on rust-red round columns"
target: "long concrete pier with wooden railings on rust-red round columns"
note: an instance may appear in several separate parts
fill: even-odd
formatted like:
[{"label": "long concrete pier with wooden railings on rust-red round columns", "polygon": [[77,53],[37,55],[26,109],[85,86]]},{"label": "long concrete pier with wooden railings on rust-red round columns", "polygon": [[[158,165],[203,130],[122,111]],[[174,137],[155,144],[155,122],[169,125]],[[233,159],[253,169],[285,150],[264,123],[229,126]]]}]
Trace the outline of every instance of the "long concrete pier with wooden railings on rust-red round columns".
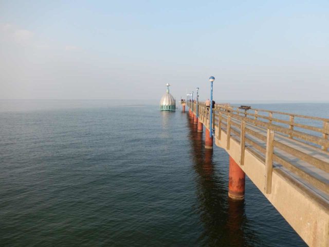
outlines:
[{"label": "long concrete pier with wooden railings on rust-red round columns", "polygon": [[229,104],[215,104],[210,114],[193,100],[187,106],[198,132],[205,129],[205,148],[229,154],[230,198],[244,199],[247,175],[309,246],[329,246],[329,118]]}]

